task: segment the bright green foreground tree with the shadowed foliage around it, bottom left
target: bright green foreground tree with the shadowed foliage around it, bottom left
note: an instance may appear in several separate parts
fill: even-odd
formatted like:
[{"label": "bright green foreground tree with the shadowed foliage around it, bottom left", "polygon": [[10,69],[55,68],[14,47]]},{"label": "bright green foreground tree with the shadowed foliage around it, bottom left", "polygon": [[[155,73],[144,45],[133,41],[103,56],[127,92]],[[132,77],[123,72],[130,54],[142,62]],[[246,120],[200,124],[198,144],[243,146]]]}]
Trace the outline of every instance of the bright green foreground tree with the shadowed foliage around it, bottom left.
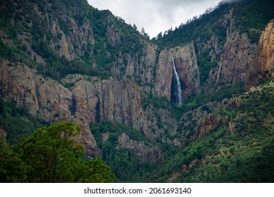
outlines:
[{"label": "bright green foreground tree with the shadowed foliage around it, bottom left", "polygon": [[37,129],[13,148],[1,144],[1,159],[10,158],[1,165],[1,182],[113,182],[103,160],[83,158],[82,146],[73,139],[79,133],[73,123],[60,122]]}]

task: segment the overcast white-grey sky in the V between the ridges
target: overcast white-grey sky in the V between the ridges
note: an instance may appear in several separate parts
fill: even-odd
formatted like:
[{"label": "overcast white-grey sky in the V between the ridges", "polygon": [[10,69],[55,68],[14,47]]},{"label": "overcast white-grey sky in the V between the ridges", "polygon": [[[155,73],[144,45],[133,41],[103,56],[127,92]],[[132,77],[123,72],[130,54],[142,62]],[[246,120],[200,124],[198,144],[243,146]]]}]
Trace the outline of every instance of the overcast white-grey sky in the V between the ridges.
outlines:
[{"label": "overcast white-grey sky in the V between the ridges", "polygon": [[214,8],[221,0],[88,0],[99,10],[110,10],[126,23],[142,27],[150,38],[173,29],[193,16]]}]

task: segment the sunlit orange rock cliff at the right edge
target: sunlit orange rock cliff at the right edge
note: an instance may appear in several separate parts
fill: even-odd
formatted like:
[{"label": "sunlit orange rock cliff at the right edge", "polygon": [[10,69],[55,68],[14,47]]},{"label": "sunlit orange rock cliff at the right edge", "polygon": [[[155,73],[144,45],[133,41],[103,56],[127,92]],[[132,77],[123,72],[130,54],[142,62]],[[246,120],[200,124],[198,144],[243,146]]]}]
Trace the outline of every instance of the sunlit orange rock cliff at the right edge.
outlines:
[{"label": "sunlit orange rock cliff at the right edge", "polygon": [[249,70],[247,89],[260,80],[273,75],[274,71],[274,22],[268,23],[261,34],[258,56],[253,67]]}]

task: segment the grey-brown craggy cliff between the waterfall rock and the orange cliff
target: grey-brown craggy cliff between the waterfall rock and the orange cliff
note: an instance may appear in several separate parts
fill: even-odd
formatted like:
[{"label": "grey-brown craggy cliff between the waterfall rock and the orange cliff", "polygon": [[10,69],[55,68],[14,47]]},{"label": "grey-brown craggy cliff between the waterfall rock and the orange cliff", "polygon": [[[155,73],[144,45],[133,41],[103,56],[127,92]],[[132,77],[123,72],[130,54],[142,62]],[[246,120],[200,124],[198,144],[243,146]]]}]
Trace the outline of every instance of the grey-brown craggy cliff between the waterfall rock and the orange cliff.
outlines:
[{"label": "grey-brown craggy cliff between the waterfall rock and the orange cliff", "polygon": [[[207,86],[204,87],[209,92],[213,92],[222,85],[233,86],[237,83],[245,83],[249,77],[247,70],[252,68],[254,59],[256,58],[257,45],[252,44],[246,33],[240,32],[235,27],[235,10],[221,18],[218,23],[227,25],[226,42],[223,46],[214,44],[214,55],[218,67],[212,68],[209,72]],[[218,43],[218,42],[217,42]],[[223,50],[223,52],[221,52]],[[220,53],[221,52],[221,53]]]}]

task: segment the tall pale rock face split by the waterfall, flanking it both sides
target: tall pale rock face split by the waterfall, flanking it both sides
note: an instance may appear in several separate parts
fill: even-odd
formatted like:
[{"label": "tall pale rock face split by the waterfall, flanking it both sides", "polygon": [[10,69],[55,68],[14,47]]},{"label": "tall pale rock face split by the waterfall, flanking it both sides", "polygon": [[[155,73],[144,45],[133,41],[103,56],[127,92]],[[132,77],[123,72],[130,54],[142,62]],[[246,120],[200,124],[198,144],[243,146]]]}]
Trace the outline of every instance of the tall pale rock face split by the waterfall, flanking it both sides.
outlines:
[{"label": "tall pale rock face split by the waterfall, flanking it both sides", "polygon": [[181,81],[183,98],[200,94],[200,71],[193,42],[174,49],[164,49],[159,54],[156,68],[155,94],[167,96],[171,100],[171,81],[173,76],[173,60]]}]

